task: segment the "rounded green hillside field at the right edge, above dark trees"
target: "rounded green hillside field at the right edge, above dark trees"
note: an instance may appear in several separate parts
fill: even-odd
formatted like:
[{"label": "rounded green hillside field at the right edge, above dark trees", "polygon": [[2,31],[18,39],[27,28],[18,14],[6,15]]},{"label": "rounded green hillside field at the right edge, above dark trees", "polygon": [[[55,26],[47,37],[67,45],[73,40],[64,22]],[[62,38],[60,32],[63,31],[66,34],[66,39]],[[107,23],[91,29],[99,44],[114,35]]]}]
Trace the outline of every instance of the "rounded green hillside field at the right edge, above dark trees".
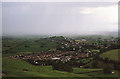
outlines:
[{"label": "rounded green hillside field at the right edge, above dark trees", "polygon": [[101,58],[109,58],[110,60],[120,61],[120,49],[110,50],[100,55]]}]

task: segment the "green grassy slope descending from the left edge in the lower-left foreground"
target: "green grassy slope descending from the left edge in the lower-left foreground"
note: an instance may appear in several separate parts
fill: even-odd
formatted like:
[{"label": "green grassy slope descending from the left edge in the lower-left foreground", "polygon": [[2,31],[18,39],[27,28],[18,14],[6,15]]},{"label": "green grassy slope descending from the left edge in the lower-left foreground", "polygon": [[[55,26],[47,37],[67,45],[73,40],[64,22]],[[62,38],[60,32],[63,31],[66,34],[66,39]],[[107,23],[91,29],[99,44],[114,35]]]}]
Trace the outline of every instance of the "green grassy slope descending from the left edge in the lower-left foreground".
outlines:
[{"label": "green grassy slope descending from the left edge in the lower-left foreground", "polygon": [[[51,66],[34,66],[25,61],[3,58],[3,71],[8,77],[88,77],[85,74],[75,74],[52,70]],[[23,69],[29,71],[24,72]]]}]

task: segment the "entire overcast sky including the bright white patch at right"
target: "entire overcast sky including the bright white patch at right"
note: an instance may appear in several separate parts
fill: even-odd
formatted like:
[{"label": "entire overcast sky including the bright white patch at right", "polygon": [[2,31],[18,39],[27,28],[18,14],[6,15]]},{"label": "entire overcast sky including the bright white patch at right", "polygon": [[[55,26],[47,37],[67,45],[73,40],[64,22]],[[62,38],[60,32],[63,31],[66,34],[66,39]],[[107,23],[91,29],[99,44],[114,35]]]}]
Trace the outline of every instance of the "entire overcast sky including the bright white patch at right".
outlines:
[{"label": "entire overcast sky including the bright white patch at right", "polygon": [[3,2],[4,35],[95,34],[118,31],[114,2]]}]

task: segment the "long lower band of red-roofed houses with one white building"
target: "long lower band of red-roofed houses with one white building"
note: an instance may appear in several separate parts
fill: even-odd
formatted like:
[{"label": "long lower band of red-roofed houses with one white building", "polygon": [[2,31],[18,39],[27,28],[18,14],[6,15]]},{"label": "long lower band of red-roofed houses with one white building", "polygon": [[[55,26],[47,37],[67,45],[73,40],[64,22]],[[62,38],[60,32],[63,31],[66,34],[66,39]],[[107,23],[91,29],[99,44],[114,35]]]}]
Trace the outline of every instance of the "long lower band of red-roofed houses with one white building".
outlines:
[{"label": "long lower band of red-roofed houses with one white building", "polygon": [[14,55],[10,56],[14,59],[21,59],[21,60],[27,60],[27,59],[34,59],[34,60],[61,60],[62,62],[70,61],[72,58],[79,59],[79,58],[86,58],[91,55],[91,52],[87,53],[80,53],[75,51],[48,51],[48,52],[36,52],[32,54],[27,55]]}]

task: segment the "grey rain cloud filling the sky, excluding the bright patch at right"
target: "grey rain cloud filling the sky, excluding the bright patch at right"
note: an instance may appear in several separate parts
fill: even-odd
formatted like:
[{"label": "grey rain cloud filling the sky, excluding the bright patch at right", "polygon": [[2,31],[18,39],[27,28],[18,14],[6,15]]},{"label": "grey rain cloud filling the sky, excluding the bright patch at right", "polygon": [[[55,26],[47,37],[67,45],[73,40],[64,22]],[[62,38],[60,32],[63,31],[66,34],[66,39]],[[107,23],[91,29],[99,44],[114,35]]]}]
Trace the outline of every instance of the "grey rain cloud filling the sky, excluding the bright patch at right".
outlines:
[{"label": "grey rain cloud filling the sky, excluding the bright patch at right", "polygon": [[[77,7],[106,7],[115,3],[3,3],[3,34],[59,34],[105,31],[107,23],[95,15],[72,11]],[[108,27],[106,27],[109,31]],[[107,31],[106,30],[106,31]]]}]

